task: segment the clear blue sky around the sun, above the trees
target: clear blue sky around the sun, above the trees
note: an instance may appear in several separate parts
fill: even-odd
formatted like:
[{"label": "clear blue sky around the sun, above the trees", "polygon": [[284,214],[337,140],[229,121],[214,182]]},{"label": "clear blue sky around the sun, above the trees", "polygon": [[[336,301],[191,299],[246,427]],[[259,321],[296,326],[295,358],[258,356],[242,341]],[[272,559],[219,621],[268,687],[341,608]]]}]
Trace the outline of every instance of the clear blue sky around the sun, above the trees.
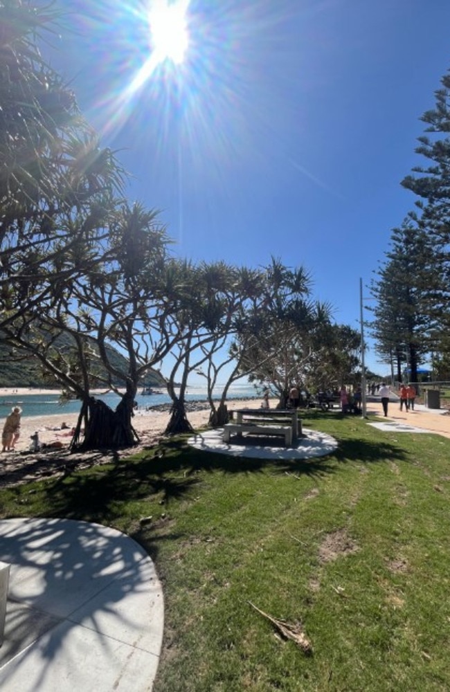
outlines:
[{"label": "clear blue sky around the sun, above the trees", "polygon": [[[399,183],[450,68],[450,2],[191,0],[184,62],[138,80],[148,6],[60,0],[52,39],[53,66],[133,176],[129,199],[161,210],[184,257],[305,266],[336,322],[359,329],[359,277],[413,208]],[[366,364],[387,370],[373,349]]]}]

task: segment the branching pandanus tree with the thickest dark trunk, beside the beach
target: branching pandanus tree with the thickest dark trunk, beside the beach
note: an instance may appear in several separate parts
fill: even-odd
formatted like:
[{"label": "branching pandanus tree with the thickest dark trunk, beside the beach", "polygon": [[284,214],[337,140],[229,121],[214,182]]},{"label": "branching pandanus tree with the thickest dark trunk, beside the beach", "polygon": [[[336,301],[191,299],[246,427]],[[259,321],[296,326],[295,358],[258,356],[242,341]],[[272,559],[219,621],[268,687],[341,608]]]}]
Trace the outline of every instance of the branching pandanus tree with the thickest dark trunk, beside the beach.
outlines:
[{"label": "branching pandanus tree with the thickest dark trunk, beside the beach", "polygon": [[[73,448],[82,450],[137,441],[138,384],[179,338],[169,239],[156,212],[124,205],[107,231],[96,264],[70,282],[53,282],[51,297],[22,318],[15,338],[10,334],[10,343],[33,354],[68,396],[80,399]],[[116,393],[116,408],[91,394],[98,387]]]}]

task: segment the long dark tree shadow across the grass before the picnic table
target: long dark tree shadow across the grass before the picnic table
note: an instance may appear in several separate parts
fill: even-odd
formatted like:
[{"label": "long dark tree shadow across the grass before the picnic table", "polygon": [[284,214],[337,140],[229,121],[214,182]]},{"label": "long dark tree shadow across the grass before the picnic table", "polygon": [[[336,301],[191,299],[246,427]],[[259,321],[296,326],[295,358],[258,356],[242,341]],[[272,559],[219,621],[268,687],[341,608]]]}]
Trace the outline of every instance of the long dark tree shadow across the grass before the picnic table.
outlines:
[{"label": "long dark tree shadow across the grass before the picnic table", "polygon": [[406,454],[388,442],[347,439],[328,457],[271,461],[199,452],[185,439],[176,439],[117,464],[59,478],[44,493],[60,516],[83,516],[92,521],[101,517],[104,521],[116,516],[118,503],[158,498],[161,505],[168,506],[173,500],[181,500],[195,491],[204,473],[296,473],[311,477],[335,473],[341,463],[368,464],[384,459],[404,460]]}]

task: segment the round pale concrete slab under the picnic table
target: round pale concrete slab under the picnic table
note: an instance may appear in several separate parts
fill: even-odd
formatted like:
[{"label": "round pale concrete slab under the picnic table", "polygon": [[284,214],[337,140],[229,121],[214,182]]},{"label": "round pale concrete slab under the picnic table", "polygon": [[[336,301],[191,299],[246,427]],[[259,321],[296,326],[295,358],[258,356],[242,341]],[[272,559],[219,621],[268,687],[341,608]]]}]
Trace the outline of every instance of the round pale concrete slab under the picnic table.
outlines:
[{"label": "round pale concrete slab under the picnic table", "polygon": [[[240,444],[237,444],[237,441],[226,444],[222,439],[223,432],[223,428],[197,432],[189,438],[188,444],[204,452],[250,459],[312,459],[332,454],[338,446],[336,439],[331,435],[307,428],[303,428],[303,437],[300,437],[297,445],[292,447],[282,446],[281,441],[273,446],[258,444],[258,438],[254,436],[242,437]],[[237,440],[236,437],[234,439]]]}]

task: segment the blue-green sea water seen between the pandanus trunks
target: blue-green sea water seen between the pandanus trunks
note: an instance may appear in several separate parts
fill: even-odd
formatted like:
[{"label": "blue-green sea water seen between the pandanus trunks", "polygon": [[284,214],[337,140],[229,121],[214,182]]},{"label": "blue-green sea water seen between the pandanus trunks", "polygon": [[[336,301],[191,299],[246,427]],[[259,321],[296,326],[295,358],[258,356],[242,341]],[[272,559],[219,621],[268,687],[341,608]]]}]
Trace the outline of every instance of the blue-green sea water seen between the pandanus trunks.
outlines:
[{"label": "blue-green sea water seen between the pandanus trunks", "polygon": [[[219,390],[217,392],[219,394]],[[253,385],[234,385],[228,392],[228,399],[246,399],[258,397]],[[115,408],[119,402],[116,394],[105,394],[97,397],[106,401],[108,406]],[[206,399],[206,390],[201,387],[188,388],[186,394],[187,401],[204,401]],[[138,394],[136,401],[139,407],[146,408],[158,406],[161,403],[170,403],[168,394],[147,394],[142,396]],[[28,416],[51,416],[61,415],[65,413],[78,413],[80,411],[80,401],[69,401],[61,404],[57,394],[4,394],[0,392],[0,418],[4,418],[10,412],[12,406],[20,406],[22,409],[22,417]]]}]

